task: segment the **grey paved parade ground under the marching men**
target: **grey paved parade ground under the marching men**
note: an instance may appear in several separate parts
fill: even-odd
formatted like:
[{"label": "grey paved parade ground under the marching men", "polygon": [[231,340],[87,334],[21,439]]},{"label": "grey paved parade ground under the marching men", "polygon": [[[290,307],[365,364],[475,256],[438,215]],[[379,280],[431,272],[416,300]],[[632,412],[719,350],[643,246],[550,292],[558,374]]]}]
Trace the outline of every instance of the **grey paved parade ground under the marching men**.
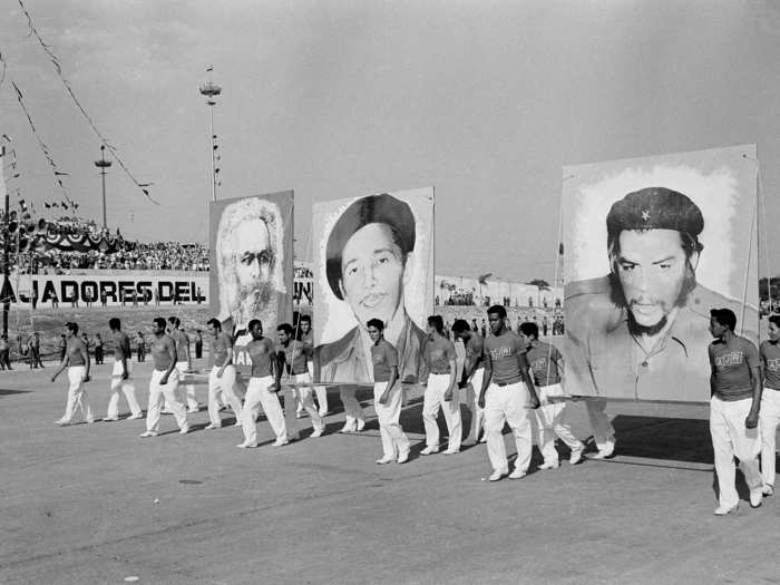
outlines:
[{"label": "grey paved parade ground under the marching men", "polygon": [[[108,369],[88,384],[99,415]],[[202,430],[205,410],[187,436],[172,417],[156,439],[143,420],[59,428],[51,371],[0,373],[3,584],[780,582],[776,498],[712,515],[703,407],[611,404],[616,458],[490,484],[484,446],[377,466],[376,422],[339,435],[340,412],[283,448],[261,421],[254,450]],[[587,437],[582,404],[571,418]],[[419,443],[419,396],[402,422]]]}]

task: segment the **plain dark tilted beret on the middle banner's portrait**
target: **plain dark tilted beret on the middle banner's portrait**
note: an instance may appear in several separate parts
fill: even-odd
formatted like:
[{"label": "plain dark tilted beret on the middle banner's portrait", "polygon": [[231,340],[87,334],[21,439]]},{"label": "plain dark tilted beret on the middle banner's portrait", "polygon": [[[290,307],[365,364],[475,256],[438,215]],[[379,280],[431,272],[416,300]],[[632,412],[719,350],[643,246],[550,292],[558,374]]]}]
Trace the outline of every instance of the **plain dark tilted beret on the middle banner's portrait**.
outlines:
[{"label": "plain dark tilted beret on the middle banner's portrait", "polygon": [[353,202],[335,222],[325,248],[328,284],[338,299],[344,300],[339,287],[341,253],[350,237],[369,224],[387,224],[393,231],[403,255],[415,250],[415,214],[406,202],[392,195],[369,195]]}]

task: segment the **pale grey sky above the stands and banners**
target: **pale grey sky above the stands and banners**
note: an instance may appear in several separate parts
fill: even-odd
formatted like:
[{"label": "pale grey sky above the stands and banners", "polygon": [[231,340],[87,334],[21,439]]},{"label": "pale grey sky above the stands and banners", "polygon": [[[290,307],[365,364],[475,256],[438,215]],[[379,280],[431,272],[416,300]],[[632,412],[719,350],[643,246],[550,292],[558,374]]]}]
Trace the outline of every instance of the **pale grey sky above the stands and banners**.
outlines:
[{"label": "pale grey sky above the stands and banners", "polygon": [[[155,183],[160,205],[111,168],[109,226],[129,237],[206,241],[211,64],[218,195],[294,189],[302,257],[312,202],[433,185],[437,273],[552,281],[564,165],[747,143],[780,221],[779,3],[23,1],[97,126]],[[100,143],[27,33],[0,0],[11,186],[39,212],[62,198],[9,78],[100,221]]]}]

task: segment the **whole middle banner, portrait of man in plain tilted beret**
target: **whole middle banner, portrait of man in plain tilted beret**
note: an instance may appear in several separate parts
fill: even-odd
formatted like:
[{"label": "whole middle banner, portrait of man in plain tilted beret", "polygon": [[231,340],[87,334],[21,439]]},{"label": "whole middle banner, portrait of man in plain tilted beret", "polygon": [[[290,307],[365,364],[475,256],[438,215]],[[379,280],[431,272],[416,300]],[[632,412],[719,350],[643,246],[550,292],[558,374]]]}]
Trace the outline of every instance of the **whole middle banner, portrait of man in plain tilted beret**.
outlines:
[{"label": "whole middle banner, portrait of man in plain tilted beret", "polygon": [[380,319],[416,383],[433,310],[433,188],[318,203],[313,209],[315,376],[373,381],[365,323]]}]

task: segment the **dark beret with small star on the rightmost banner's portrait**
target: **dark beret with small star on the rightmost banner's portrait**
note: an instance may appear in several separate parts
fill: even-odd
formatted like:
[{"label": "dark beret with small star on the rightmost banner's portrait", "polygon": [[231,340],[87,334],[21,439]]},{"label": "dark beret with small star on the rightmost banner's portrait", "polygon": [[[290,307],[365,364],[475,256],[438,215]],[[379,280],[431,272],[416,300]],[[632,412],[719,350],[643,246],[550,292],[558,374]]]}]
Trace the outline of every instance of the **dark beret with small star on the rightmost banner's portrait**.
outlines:
[{"label": "dark beret with small star on the rightmost banner's portrait", "polygon": [[704,217],[688,196],[665,187],[646,187],[615,202],[606,216],[611,237],[623,230],[676,230],[699,235]]}]

